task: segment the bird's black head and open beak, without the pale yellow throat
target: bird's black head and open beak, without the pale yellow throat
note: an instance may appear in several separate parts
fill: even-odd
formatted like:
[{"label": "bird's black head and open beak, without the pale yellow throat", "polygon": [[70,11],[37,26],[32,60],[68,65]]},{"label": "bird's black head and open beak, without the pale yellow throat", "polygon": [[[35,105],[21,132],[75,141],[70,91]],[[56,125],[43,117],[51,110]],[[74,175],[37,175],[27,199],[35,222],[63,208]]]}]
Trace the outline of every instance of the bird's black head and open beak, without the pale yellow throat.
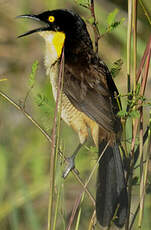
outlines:
[{"label": "bird's black head and open beak, without the pale yellow throat", "polygon": [[28,31],[18,37],[27,36],[35,32],[59,31],[65,33],[66,53],[72,52],[74,55],[75,52],[84,52],[85,49],[92,49],[92,42],[85,22],[78,14],[71,10],[57,9],[38,15],[21,15],[18,18],[31,18],[43,23],[42,27]]}]

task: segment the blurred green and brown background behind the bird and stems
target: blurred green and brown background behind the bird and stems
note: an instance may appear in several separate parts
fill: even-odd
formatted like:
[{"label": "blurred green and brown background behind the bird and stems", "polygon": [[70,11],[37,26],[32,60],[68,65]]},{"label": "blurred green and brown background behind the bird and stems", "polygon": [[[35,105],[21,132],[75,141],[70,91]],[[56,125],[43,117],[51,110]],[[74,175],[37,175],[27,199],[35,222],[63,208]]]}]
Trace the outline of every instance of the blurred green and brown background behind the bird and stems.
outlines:
[{"label": "blurred green and brown background behind the bird and stems", "polygon": [[[86,1],[85,1],[86,2]],[[150,1],[143,1],[151,13]],[[54,101],[45,74],[43,56],[44,42],[37,35],[22,39],[16,36],[33,28],[35,25],[26,20],[16,20],[15,17],[27,13],[40,13],[48,9],[68,8],[76,10],[86,20],[90,13],[71,0],[0,0],[0,90],[8,94],[18,104],[24,102],[29,90],[28,79],[32,64],[38,60],[36,83],[27,102],[26,111],[51,134]],[[108,14],[115,8],[119,9],[118,18],[125,18],[124,23],[112,33],[102,37],[99,42],[100,56],[107,65],[123,59],[123,68],[115,78],[120,93],[126,93],[126,33],[127,33],[127,1],[98,0],[96,1],[96,17],[100,32],[106,26]],[[151,26],[144,12],[138,7],[138,64],[148,41]],[[93,36],[92,28],[88,29]],[[146,96],[150,97],[148,81]],[[41,99],[42,98],[42,99]],[[43,101],[43,103],[41,103]],[[123,102],[124,103],[124,102]],[[148,120],[148,108],[145,110]],[[61,145],[64,152],[70,155],[78,144],[77,135],[61,123]],[[91,138],[88,146],[93,145]],[[49,158],[50,144],[40,131],[25,116],[0,97],[0,229],[1,230],[41,230],[47,228],[47,210],[49,196]],[[92,153],[93,152],[93,153]],[[97,154],[83,147],[76,160],[83,181],[90,174],[96,162]],[[61,173],[64,166],[58,164],[57,183],[61,184],[61,205],[59,221],[56,229],[65,229],[75,200],[82,190],[72,175],[64,181]],[[61,182],[58,182],[61,181]],[[95,196],[96,177],[91,180],[88,188]],[[133,209],[138,200],[138,188],[133,191]],[[88,222],[93,213],[93,205],[85,196],[82,204],[80,229],[88,229]],[[133,214],[133,213],[132,213]],[[151,196],[146,196],[143,228],[151,229]],[[63,224],[64,223],[64,224]],[[74,227],[73,227],[74,229]],[[97,225],[96,229],[100,229]],[[137,229],[137,223],[134,229]]]}]

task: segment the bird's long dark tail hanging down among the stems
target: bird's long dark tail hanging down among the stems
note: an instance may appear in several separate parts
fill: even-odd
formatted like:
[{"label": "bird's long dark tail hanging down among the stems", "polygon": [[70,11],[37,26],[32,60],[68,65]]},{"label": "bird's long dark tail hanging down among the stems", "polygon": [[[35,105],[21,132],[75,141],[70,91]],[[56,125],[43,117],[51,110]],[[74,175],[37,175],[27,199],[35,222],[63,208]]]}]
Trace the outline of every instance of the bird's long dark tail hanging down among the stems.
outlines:
[{"label": "bird's long dark tail hanging down among the stems", "polygon": [[[99,145],[101,154],[107,142]],[[124,178],[121,155],[118,144],[108,146],[99,162],[97,191],[96,191],[96,215],[102,226],[109,226],[114,219],[118,227],[125,224],[128,209],[128,196]]]}]

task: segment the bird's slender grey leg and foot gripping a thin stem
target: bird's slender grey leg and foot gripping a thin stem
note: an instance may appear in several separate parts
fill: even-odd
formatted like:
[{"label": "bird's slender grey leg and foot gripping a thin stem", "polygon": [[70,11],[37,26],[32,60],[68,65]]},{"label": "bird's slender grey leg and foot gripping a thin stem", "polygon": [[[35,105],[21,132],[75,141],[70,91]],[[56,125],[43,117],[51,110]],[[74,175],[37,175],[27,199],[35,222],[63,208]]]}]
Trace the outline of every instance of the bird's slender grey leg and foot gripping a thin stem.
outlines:
[{"label": "bird's slender grey leg and foot gripping a thin stem", "polygon": [[68,157],[67,158],[67,161],[68,161],[68,165],[67,165],[67,168],[66,168],[66,170],[64,171],[64,173],[63,173],[63,178],[66,178],[67,177],[67,175],[69,174],[69,172],[72,170],[72,169],[74,169],[75,168],[75,157],[76,157],[76,155],[78,154],[78,152],[79,152],[79,150],[80,150],[80,148],[82,147],[82,144],[80,143],[78,146],[77,146],[77,148],[76,148],[76,150],[74,151],[74,153],[72,154],[72,156],[70,156],[70,157]]}]

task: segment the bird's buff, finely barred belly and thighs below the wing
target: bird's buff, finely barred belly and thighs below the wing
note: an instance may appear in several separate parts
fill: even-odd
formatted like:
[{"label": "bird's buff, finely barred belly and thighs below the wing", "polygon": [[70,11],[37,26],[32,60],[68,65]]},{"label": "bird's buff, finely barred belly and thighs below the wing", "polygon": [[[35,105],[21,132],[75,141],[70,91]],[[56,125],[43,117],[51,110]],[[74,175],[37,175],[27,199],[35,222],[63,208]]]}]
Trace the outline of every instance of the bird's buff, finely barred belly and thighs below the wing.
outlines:
[{"label": "bird's buff, finely barred belly and thighs below the wing", "polygon": [[[57,66],[53,66],[50,74],[50,81],[52,85],[52,91],[53,96],[56,101],[57,99],[57,89],[58,89],[58,68]],[[69,125],[71,126],[75,132],[78,133],[80,143],[83,144],[87,137],[88,137],[88,128],[91,130],[91,134],[94,140],[94,143],[96,146],[98,145],[98,136],[100,136],[100,139],[106,139],[108,137],[108,132],[106,132],[104,129],[99,127],[99,125],[90,119],[87,115],[85,115],[83,112],[80,112],[77,110],[68,97],[65,95],[64,92],[62,92],[61,97],[59,101],[59,110],[61,109],[61,118]],[[109,134],[110,135],[110,134]]]}]

